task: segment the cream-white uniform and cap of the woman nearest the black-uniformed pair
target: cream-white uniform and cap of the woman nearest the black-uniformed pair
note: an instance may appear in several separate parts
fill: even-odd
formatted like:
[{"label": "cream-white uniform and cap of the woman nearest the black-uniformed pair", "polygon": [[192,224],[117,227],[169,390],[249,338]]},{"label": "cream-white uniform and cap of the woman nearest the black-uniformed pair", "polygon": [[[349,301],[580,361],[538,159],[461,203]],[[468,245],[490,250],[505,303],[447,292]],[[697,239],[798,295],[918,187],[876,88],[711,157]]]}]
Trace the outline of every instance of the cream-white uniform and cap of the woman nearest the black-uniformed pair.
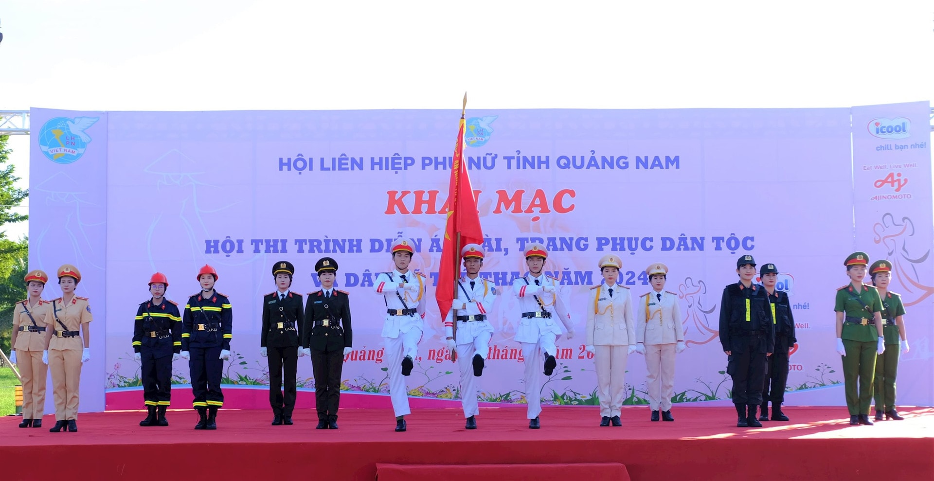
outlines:
[{"label": "cream-white uniform and cap of the woman nearest the black-uniformed pair", "polygon": [[[668,267],[655,263],[645,273],[649,277],[667,274]],[[668,290],[652,290],[640,296],[635,307],[639,318],[636,338],[645,351],[648,405],[652,411],[667,412],[672,409],[674,355],[685,349],[678,295]],[[658,420],[655,413],[653,420]]]}]

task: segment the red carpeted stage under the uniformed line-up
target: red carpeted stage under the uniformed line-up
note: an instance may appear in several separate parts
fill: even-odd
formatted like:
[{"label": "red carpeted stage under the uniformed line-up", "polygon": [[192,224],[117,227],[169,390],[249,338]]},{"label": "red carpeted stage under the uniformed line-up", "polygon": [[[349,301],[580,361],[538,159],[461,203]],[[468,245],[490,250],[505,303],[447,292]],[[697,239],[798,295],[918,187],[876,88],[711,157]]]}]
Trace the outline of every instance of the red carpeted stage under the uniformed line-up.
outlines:
[{"label": "red carpeted stage under the uniformed line-up", "polygon": [[[934,409],[905,409],[903,421],[846,424],[841,407],[789,407],[791,422],[734,426],[735,411],[675,407],[675,422],[623,410],[622,428],[600,428],[593,408],[545,406],[542,429],[525,410],[485,408],[479,429],[462,411],[417,409],[408,431],[391,411],[346,409],[338,431],[316,431],[313,410],[293,426],[270,426],[268,410],[223,410],[218,431],[193,431],[191,410],[170,411],[167,428],[140,428],[143,412],[82,414],[78,432],[18,429],[0,418],[4,479],[159,480],[582,479],[735,480],[927,479],[934,473]],[[465,466],[469,465],[469,466]]]}]

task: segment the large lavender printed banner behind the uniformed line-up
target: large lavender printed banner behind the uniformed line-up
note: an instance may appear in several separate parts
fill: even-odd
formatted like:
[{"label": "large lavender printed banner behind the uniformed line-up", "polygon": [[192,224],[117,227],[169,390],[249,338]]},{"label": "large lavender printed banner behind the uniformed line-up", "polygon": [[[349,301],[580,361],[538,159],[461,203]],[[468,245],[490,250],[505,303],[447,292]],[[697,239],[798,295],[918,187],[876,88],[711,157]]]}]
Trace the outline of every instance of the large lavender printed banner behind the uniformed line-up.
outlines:
[{"label": "large lavender printed banner behind the uniformed line-up", "polygon": [[[918,116],[921,106],[887,106],[885,116]],[[353,314],[342,403],[388,405],[379,336],[385,305],[373,283],[392,268],[389,245],[400,235],[416,243],[412,267],[429,279],[409,394],[419,398],[415,406],[456,402],[459,379],[433,286],[459,114],[34,109],[31,267],[76,263],[84,276],[78,294],[94,309],[81,409],[142,406],[131,337],[136,306],[149,298],[149,276],[166,274],[167,296],[184,304],[199,290],[195,276],[205,263],[217,268],[217,289],[233,304],[224,405],[268,406],[259,331],[262,295],[275,289],[272,265],[293,262],[292,290],[311,292],[323,256],[339,262],[337,284],[350,292]],[[736,259],[750,254],[776,264],[779,289],[793,304],[798,345],[786,403],[843,404],[833,342],[834,293],[846,281],[842,260],[856,248],[873,256],[884,249],[864,245],[868,237],[854,239],[850,116],[850,108],[469,112],[464,155],[488,235],[481,275],[499,294],[481,401],[525,402],[510,286],[526,272],[524,248],[542,242],[545,271],[560,280],[577,334],[559,339],[559,369],[544,383],[545,403],[597,403],[585,349],[587,290],[601,282],[597,261],[614,252],[633,299],[650,289],[648,264],[671,269],[665,289],[681,300],[687,340],[677,358],[676,402],[729,403],[718,304],[724,286],[737,280]],[[925,142],[916,152],[918,159],[927,155],[927,179],[919,168],[909,184],[914,197],[900,205],[915,209],[918,245],[930,248],[925,119],[915,120],[912,142]],[[893,226],[904,223],[905,214],[893,215]],[[870,232],[859,219],[857,233]],[[905,255],[918,273],[913,279],[930,286],[932,260],[919,249]],[[57,295],[50,284],[46,296]],[[930,377],[932,335],[929,322],[922,326],[930,301],[908,306],[908,318],[918,321],[909,320],[913,353],[899,379]],[[643,357],[631,356],[628,369],[626,403],[646,403]],[[173,373],[179,388],[189,384],[186,361],[176,361]],[[298,384],[301,400],[314,386],[307,358]],[[186,390],[176,390],[173,406],[190,401]],[[901,389],[899,403],[931,405],[934,394],[929,387]]]}]

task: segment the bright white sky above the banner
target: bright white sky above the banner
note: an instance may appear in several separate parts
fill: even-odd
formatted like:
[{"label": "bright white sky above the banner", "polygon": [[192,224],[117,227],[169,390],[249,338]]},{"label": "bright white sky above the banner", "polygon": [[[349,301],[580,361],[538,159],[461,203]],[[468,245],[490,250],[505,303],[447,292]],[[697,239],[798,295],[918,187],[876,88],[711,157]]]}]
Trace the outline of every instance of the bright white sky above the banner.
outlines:
[{"label": "bright white sky above the banner", "polygon": [[[0,32],[0,110],[934,99],[930,0],[3,0]],[[9,143],[24,188],[27,141]]]}]

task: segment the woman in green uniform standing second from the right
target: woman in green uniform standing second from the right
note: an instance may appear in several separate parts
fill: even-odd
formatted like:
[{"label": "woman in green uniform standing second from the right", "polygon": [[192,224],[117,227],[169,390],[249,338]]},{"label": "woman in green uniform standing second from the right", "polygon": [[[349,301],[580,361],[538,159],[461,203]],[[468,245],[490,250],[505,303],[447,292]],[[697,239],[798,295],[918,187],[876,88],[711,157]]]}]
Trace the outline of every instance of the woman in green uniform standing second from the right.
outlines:
[{"label": "woman in green uniform standing second from the right", "polygon": [[[870,256],[854,252],[846,258],[850,283],[837,290],[833,310],[837,313],[837,353],[843,361],[843,388],[850,424],[872,425],[872,375],[876,357],[885,350],[882,332],[882,300],[879,291],[863,284]],[[856,382],[859,390],[856,390]]]}]

